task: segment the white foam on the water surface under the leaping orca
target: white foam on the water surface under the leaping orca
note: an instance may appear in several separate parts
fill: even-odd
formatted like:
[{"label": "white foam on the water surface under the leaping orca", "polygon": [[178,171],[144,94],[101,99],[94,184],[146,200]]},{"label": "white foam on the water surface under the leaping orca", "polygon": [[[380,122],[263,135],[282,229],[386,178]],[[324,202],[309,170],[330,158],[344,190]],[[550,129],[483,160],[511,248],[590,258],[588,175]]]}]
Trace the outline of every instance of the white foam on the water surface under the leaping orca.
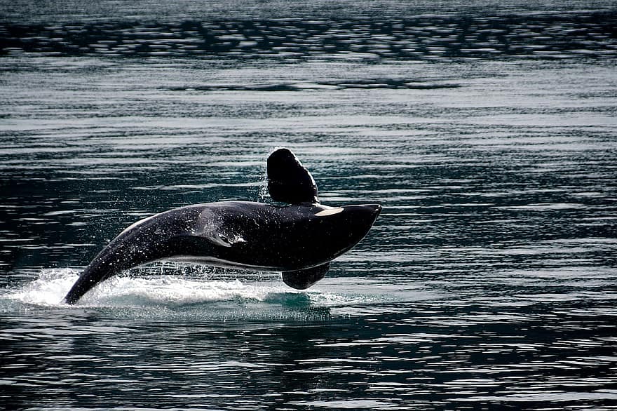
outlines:
[{"label": "white foam on the water surface under the leaping orca", "polygon": [[[297,314],[295,311],[304,312],[308,306],[341,309],[374,302],[371,296],[346,295],[332,290],[328,292],[318,287],[311,290],[293,290],[280,281],[278,274],[249,280],[243,278],[243,281],[229,278],[227,274],[221,276],[224,279],[212,280],[212,273],[208,273],[207,278],[203,275],[183,276],[183,266],[174,267],[161,266],[161,274],[156,275],[110,278],[83,295],[74,306],[63,303],[62,299],[79,277],[79,271],[69,268],[43,269],[34,281],[6,290],[2,298],[17,304],[61,309],[175,307],[180,311],[190,311],[189,306],[201,305],[203,307],[200,310],[206,310],[208,316],[216,316],[218,311],[221,311],[219,314],[222,316],[231,315],[233,313],[229,310],[236,310],[238,317],[258,316],[264,311],[263,315],[281,318],[294,317]],[[187,309],[182,308],[183,306],[187,306]]]}]

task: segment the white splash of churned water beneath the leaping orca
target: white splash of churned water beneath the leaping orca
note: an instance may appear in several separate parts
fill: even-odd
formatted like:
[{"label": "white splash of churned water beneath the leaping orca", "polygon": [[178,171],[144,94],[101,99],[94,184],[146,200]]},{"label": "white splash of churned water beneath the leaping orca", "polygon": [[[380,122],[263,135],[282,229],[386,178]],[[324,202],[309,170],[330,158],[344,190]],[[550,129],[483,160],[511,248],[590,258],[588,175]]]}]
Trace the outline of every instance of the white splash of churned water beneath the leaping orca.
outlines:
[{"label": "white splash of churned water beneath the leaping orca", "polygon": [[346,295],[320,288],[292,290],[279,281],[278,274],[234,276],[213,271],[217,270],[176,262],[151,264],[131,270],[130,276],[100,283],[78,304],[69,306],[62,299],[79,277],[79,271],[43,269],[33,281],[6,290],[0,301],[4,311],[86,308],[111,310],[113,316],[217,321],[317,321],[334,313],[346,315],[348,309],[377,302],[370,295]]}]

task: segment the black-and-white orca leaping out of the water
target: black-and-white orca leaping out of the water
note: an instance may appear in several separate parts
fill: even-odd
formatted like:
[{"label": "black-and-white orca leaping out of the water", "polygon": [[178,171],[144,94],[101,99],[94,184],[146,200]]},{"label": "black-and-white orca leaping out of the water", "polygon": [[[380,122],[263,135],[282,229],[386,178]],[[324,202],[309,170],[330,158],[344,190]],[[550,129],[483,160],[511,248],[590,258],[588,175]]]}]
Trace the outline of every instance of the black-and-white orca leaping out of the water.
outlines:
[{"label": "black-and-white orca leaping out of the water", "polygon": [[90,262],[64,301],[75,304],[107,278],[156,260],[280,271],[285,284],[304,290],[366,236],[381,212],[379,204],[321,204],[313,176],[290,149],[270,154],[267,180],[271,199],[286,205],[219,201],[135,222]]}]

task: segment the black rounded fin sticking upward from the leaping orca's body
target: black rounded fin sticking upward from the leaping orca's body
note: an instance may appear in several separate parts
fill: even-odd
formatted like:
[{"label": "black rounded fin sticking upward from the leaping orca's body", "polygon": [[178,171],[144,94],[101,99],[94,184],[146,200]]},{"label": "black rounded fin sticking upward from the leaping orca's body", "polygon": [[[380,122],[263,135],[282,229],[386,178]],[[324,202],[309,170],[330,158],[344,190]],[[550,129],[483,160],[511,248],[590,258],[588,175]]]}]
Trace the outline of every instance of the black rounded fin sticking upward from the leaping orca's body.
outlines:
[{"label": "black rounded fin sticking upward from the leaping orca's body", "polygon": [[319,203],[317,184],[290,149],[276,149],[268,157],[270,198],[283,203]]}]

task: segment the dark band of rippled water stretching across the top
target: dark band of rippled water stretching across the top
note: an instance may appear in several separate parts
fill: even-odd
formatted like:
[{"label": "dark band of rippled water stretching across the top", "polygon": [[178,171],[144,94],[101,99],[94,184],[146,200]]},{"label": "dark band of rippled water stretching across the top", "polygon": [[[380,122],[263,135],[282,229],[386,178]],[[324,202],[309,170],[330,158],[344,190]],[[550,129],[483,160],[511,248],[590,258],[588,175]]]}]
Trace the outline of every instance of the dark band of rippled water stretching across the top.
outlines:
[{"label": "dark band of rippled water stretching across the top", "polygon": [[0,55],[440,60],[614,58],[617,13],[0,25]]}]

